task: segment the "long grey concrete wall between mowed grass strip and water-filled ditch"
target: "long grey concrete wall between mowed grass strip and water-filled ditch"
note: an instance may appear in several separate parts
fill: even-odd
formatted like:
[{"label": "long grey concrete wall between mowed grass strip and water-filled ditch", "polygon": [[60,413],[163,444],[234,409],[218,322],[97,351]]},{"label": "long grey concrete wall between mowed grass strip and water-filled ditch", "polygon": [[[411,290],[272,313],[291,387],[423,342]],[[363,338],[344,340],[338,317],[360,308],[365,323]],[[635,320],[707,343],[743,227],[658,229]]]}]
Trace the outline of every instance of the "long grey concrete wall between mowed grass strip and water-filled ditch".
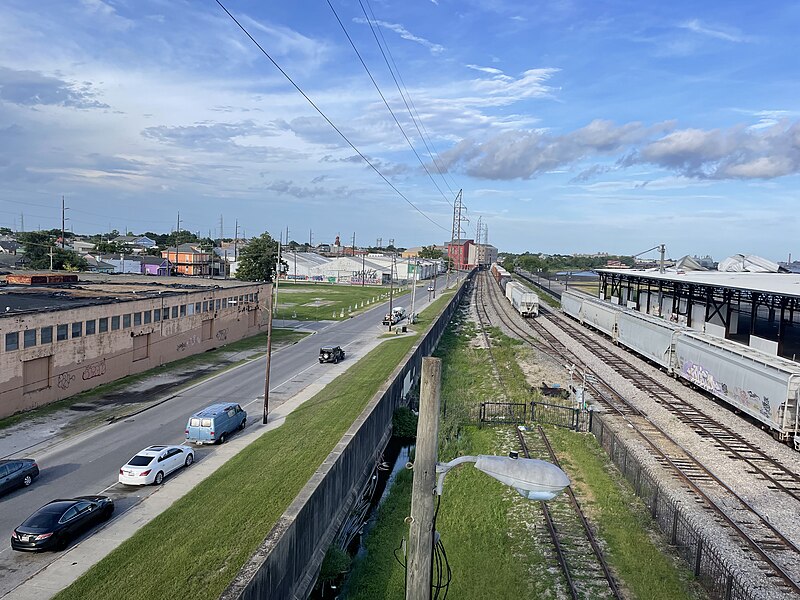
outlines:
[{"label": "long grey concrete wall between mowed grass strip and water-filled ditch", "polygon": [[419,379],[422,357],[433,352],[465,290],[409,351],[220,598],[308,597],[325,552],[389,440],[407,382]]}]

